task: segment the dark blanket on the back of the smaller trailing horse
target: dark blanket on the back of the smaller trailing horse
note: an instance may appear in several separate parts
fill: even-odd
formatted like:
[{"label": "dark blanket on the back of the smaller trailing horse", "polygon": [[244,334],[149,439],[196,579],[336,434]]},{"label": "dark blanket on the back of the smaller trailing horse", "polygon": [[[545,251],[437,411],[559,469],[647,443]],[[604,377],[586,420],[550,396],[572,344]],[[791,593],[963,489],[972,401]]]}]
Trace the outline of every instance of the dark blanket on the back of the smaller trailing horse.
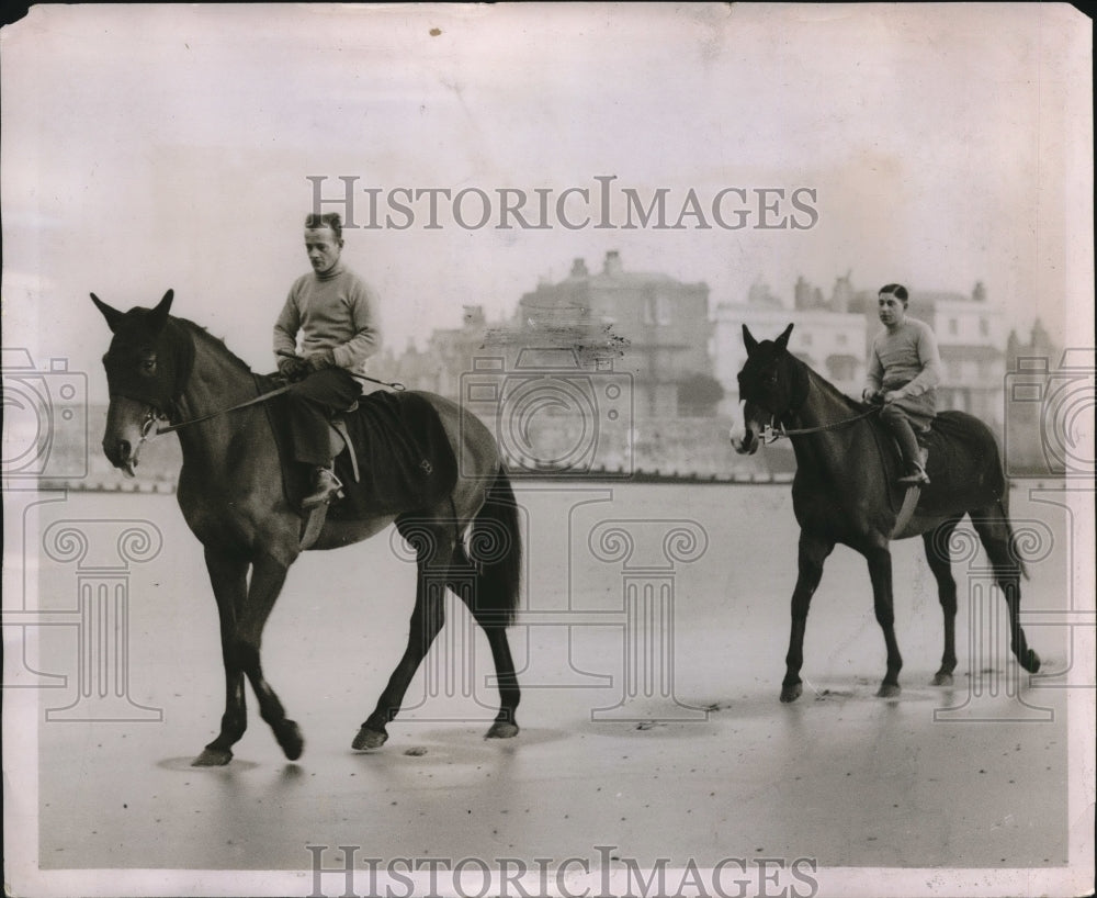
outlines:
[{"label": "dark blanket on the back of the smaller trailing horse", "polygon": [[[894,483],[902,472],[898,445],[883,425],[873,424],[885,437],[885,468]],[[926,463],[929,485],[921,490],[919,512],[931,514],[958,505],[979,507],[1005,496],[1006,481],[997,442],[979,418],[965,412],[940,412],[929,430],[918,434],[918,442],[929,450]],[[905,492],[902,485],[892,487],[894,507],[902,504]]]}]

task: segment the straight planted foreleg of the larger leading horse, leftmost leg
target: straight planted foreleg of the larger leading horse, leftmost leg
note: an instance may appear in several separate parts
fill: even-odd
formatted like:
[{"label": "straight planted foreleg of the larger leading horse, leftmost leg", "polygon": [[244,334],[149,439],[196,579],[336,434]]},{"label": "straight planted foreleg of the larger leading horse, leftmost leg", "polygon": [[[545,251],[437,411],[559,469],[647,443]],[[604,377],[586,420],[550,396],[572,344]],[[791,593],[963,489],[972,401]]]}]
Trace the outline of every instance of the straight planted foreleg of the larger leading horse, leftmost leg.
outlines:
[{"label": "straight planted foreleg of the larger leading horse, leftmost leg", "polygon": [[219,553],[206,547],[206,569],[217,599],[220,619],[220,652],[225,664],[225,714],[220,718],[220,732],[192,762],[196,767],[223,766],[233,760],[235,745],[248,726],[248,711],[244,695],[244,670],[240,667],[236,646],[236,616],[248,594],[248,561],[229,553]]}]

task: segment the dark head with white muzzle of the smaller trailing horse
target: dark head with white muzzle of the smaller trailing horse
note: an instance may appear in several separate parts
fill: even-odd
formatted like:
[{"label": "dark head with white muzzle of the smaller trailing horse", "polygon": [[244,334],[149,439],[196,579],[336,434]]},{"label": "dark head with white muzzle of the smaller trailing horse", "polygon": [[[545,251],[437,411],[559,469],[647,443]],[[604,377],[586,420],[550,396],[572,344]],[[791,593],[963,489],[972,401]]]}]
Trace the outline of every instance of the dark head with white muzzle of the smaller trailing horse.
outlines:
[{"label": "dark head with white muzzle of the smaller trailing horse", "polygon": [[789,352],[790,324],[776,340],[759,343],[743,325],[747,360],[739,371],[743,428],[732,430],[732,446],[739,454],[753,454],[762,433],[803,402],[806,380],[803,367]]}]

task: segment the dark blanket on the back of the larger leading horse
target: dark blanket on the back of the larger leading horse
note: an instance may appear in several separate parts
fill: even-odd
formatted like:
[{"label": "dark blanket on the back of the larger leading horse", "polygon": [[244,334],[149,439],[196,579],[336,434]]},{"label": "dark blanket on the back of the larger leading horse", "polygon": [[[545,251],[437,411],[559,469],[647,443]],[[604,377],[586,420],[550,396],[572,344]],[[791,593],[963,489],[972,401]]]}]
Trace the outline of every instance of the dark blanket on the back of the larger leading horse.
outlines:
[{"label": "dark blanket on the back of the larger leading horse", "polygon": [[[259,386],[271,389],[276,383],[265,381]],[[299,508],[310,487],[309,472],[293,462],[285,397],[268,402],[267,414],[282,459],[286,501]],[[453,447],[438,412],[421,393],[371,393],[342,418],[358,458],[360,481],[354,481],[350,449],[346,449],[336,459],[344,497],[331,503],[329,518],[355,520],[422,510],[453,492],[457,480]]]}]

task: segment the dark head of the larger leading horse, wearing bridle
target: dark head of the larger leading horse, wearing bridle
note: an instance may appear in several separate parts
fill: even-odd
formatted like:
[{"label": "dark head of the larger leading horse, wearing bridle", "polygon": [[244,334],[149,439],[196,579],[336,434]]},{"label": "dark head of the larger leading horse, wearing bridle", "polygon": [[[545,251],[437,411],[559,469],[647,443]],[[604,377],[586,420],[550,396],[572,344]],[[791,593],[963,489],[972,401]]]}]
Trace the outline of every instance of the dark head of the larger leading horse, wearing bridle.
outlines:
[{"label": "dark head of the larger leading horse, wearing bridle", "polygon": [[190,374],[193,355],[186,349],[193,353],[193,347],[170,324],[172,296],[169,290],[155,308],[118,312],[91,294],[114,334],[103,356],[111,396],[103,452],[127,476],[134,475],[148,431],[167,417]]}]

